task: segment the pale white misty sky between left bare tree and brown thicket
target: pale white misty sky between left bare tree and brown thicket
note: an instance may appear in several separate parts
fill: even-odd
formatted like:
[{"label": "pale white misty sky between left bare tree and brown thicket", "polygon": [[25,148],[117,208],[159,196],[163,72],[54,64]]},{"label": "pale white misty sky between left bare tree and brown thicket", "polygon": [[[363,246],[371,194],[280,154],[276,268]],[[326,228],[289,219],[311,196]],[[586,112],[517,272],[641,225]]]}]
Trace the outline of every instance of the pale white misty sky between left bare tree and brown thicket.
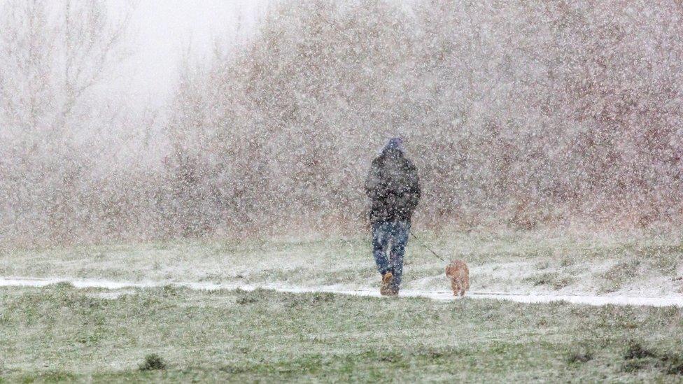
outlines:
[{"label": "pale white misty sky between left bare tree and brown thicket", "polygon": [[[135,74],[132,91],[153,106],[167,98],[176,81],[178,62],[188,48],[199,59],[211,52],[213,38],[224,41],[253,31],[268,0],[140,0],[132,36]],[[109,0],[113,8],[123,0]],[[241,28],[239,26],[241,25]],[[244,36],[242,36],[244,37]]]}]

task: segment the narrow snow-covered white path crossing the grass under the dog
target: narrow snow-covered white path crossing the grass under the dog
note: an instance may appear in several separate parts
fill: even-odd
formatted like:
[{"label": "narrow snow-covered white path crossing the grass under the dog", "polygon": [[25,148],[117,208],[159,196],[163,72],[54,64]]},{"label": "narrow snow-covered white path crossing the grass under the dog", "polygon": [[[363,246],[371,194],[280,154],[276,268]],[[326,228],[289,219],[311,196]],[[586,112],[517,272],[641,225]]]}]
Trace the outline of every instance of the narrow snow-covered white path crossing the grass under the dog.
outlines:
[{"label": "narrow snow-covered white path crossing the grass under the dog", "polygon": [[[77,288],[104,288],[107,290],[120,290],[123,288],[144,288],[162,287],[169,285],[167,282],[146,281],[129,282],[99,279],[74,279],[74,278],[27,278],[27,277],[0,277],[0,287],[44,287],[57,283],[71,283]],[[283,285],[234,285],[217,283],[197,283],[197,282],[174,282],[171,285],[187,287],[192,290],[255,290],[264,288],[276,290],[278,292],[330,292],[336,294],[350,294],[356,296],[379,297],[379,290],[360,289],[350,290],[334,286],[321,287],[288,287]],[[402,290],[403,297],[426,297],[435,300],[452,300],[453,293],[449,291],[427,291],[427,290]],[[627,296],[624,294],[591,295],[591,294],[515,294],[509,292],[477,292],[470,291],[467,297],[472,299],[496,299],[509,300],[520,303],[549,303],[552,301],[567,301],[572,304],[588,304],[593,306],[614,305],[633,305],[633,306],[677,306],[683,307],[683,295],[670,294],[663,297],[638,297]]]}]

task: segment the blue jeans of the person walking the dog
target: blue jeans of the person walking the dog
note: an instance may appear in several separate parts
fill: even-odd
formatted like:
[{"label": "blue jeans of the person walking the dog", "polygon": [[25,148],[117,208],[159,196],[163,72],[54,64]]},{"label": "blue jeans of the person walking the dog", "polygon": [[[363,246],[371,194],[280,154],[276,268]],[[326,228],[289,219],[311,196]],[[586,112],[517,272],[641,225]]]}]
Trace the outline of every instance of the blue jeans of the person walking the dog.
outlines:
[{"label": "blue jeans of the person walking the dog", "polygon": [[403,255],[408,244],[410,221],[381,221],[372,224],[372,255],[379,273],[393,274],[393,288],[398,289],[403,278]]}]

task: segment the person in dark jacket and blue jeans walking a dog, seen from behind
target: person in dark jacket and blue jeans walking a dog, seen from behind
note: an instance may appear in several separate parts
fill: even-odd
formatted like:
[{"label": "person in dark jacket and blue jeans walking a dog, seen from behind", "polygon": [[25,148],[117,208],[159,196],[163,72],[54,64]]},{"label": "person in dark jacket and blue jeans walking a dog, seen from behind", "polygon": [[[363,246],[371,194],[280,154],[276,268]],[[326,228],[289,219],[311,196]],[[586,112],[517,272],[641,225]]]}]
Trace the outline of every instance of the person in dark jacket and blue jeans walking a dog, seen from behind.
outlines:
[{"label": "person in dark jacket and blue jeans walking a dog, seen from behind", "polygon": [[383,296],[400,290],[410,219],[421,194],[417,169],[404,152],[402,138],[390,139],[365,180],[365,193],[372,201],[372,254],[382,276]]}]

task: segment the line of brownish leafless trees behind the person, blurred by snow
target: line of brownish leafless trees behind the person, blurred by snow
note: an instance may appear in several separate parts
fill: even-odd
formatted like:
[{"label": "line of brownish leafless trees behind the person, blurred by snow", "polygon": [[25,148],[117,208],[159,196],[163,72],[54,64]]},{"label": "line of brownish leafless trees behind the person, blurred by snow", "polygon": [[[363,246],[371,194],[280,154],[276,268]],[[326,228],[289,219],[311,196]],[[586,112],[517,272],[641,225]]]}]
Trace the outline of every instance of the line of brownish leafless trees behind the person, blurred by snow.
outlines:
[{"label": "line of brownish leafless trees behind the person, blurred by snow", "polygon": [[[24,17],[8,20],[17,33],[27,28],[17,22]],[[97,32],[101,41],[115,36],[110,28]],[[279,3],[239,52],[216,50],[209,63],[185,66],[164,135],[154,137],[164,142],[159,162],[95,178],[71,160],[17,171],[32,152],[0,149],[0,208],[10,214],[0,225],[13,234],[8,240],[29,242],[358,232],[362,180],[395,135],[407,138],[421,173],[421,225],[680,222],[680,36],[675,0]],[[0,57],[27,52],[12,45],[21,39],[7,41],[0,50],[10,53]],[[65,85],[69,71],[57,62]],[[3,127],[17,115],[5,101],[6,78],[0,74]],[[59,112],[40,116],[38,129],[62,121]],[[74,131],[67,120],[61,139]],[[50,142],[25,134],[29,123],[10,127],[3,138]],[[82,190],[75,194],[67,180]],[[31,199],[52,205],[36,209]]]}]

